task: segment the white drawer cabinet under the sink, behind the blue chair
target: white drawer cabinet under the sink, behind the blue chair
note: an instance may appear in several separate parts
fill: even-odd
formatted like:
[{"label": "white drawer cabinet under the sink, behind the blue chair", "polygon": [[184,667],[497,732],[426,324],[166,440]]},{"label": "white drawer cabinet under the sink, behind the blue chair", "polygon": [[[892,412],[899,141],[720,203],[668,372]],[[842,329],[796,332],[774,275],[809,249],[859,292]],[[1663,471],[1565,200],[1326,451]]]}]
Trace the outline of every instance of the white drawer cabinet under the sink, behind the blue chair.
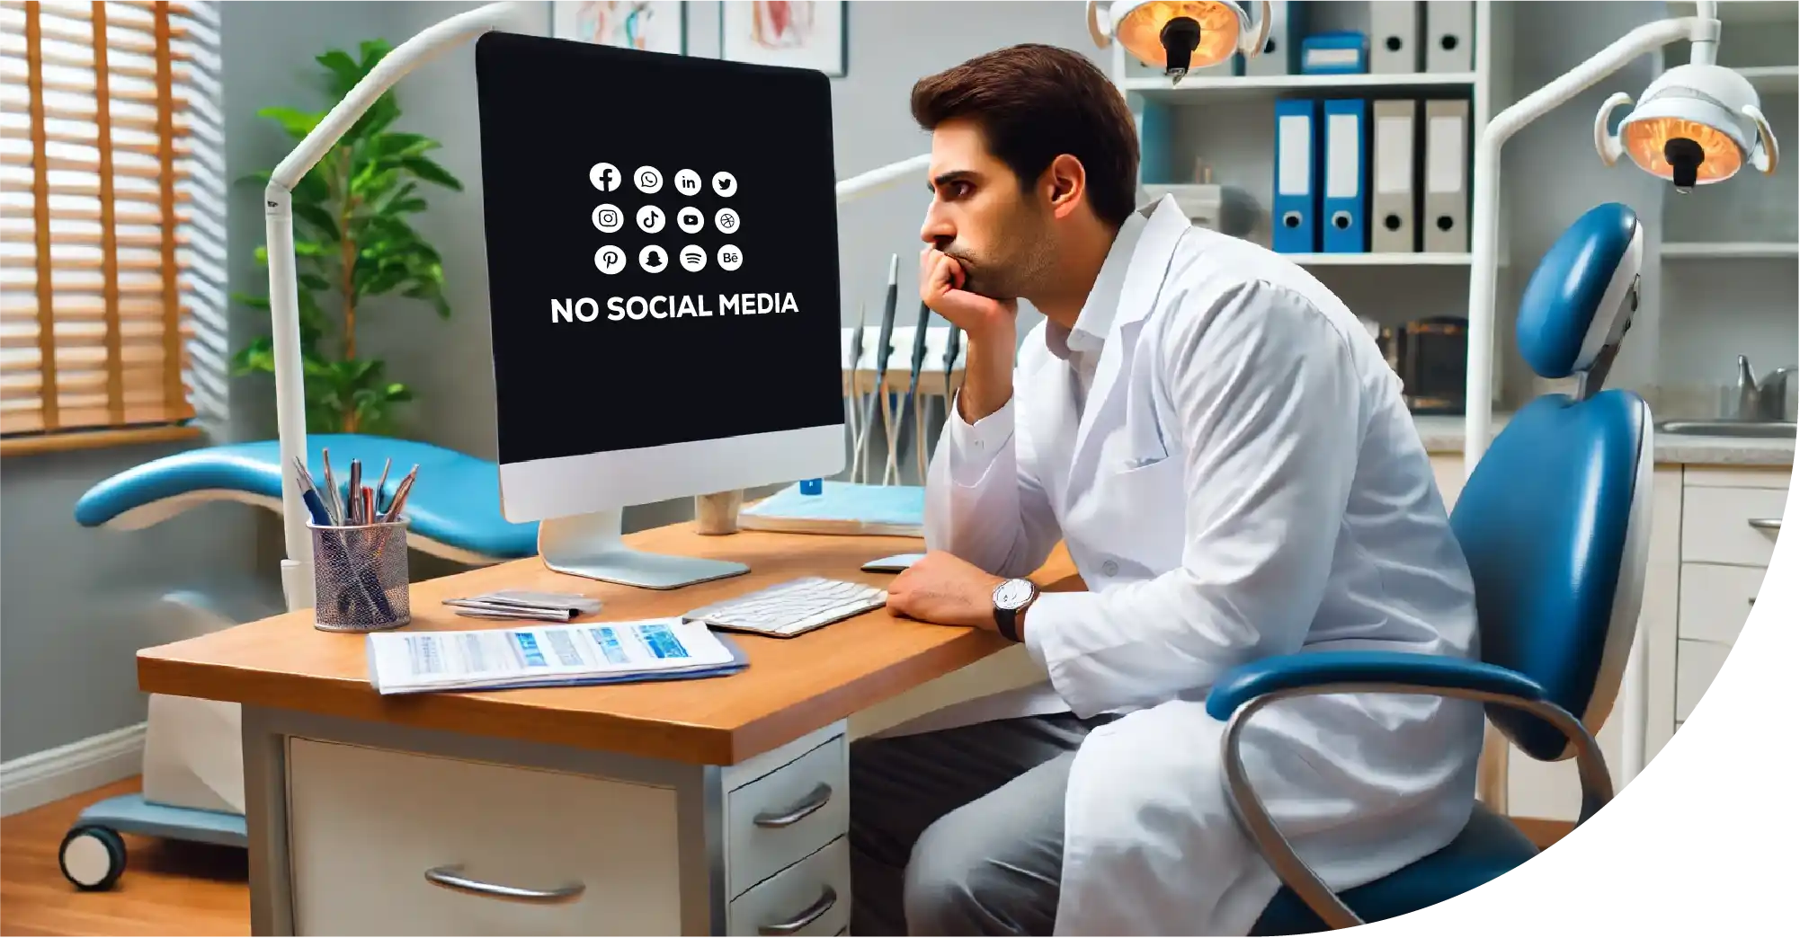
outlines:
[{"label": "white drawer cabinet under the sink, behind the blue chair", "polygon": [[[1433,455],[1447,508],[1462,493],[1460,455]],[[1597,733],[1613,785],[1624,794],[1669,749],[1694,708],[1712,693],[1768,585],[1787,515],[1793,470],[1658,466],[1652,477],[1651,549],[1627,688]],[[1642,700],[1631,713],[1627,702]],[[1577,715],[1579,717],[1579,715]],[[1627,740],[1642,735],[1642,765]],[[1508,749],[1507,814],[1575,821],[1580,785],[1575,762],[1543,763]]]}]

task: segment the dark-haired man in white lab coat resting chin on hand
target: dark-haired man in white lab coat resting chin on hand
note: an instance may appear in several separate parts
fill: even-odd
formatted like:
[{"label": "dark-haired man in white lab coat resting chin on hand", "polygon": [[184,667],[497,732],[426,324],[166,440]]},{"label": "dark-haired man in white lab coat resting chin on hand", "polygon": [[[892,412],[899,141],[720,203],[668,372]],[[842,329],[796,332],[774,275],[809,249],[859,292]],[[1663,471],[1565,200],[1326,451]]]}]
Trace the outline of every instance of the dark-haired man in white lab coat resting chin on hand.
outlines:
[{"label": "dark-haired man in white lab coat resting chin on hand", "polygon": [[[922,79],[923,301],[968,335],[889,605],[1022,641],[1049,681],[851,747],[855,938],[1240,938],[1278,880],[1222,794],[1237,664],[1476,654],[1474,592],[1399,378],[1305,270],[1138,209],[1132,117],[1078,54]],[[1231,133],[1231,128],[1217,128]],[[1017,301],[1046,322],[1017,340]],[[1017,349],[1017,351],[1015,351]],[[1087,592],[1028,578],[1066,542]],[[1449,843],[1481,713],[1265,709],[1249,778],[1336,889]]]}]

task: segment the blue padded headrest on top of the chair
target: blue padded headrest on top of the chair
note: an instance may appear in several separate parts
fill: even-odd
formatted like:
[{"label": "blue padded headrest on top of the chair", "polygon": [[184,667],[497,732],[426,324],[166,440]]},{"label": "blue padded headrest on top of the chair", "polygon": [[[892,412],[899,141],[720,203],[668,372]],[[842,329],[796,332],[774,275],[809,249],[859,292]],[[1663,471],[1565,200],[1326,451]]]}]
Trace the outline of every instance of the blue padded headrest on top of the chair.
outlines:
[{"label": "blue padded headrest on top of the chair", "polygon": [[1519,299],[1519,353],[1544,378],[1580,378],[1577,398],[1606,383],[1638,311],[1643,225],[1607,202],[1575,220],[1544,252]]}]

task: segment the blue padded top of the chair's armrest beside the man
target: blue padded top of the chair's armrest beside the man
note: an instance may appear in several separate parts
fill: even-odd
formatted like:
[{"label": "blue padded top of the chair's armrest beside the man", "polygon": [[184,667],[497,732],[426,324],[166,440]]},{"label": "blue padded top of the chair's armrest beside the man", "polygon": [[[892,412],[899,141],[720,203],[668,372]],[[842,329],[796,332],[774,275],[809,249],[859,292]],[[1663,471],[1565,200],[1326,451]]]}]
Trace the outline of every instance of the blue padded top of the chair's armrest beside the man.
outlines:
[{"label": "blue padded top of the chair's armrest beside the man", "polygon": [[1231,668],[1206,695],[1206,713],[1229,720],[1256,697],[1319,684],[1404,684],[1413,691],[1483,691],[1532,702],[1548,699],[1530,677],[1480,661],[1411,652],[1307,652]]}]

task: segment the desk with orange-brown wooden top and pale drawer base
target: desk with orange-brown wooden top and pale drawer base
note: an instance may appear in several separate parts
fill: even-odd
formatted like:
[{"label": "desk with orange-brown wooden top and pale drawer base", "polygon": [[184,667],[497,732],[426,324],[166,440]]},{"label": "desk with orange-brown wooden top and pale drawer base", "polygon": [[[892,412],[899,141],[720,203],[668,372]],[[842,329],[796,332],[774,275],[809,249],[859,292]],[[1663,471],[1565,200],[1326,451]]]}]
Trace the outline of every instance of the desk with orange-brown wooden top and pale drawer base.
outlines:
[{"label": "desk with orange-brown wooden top and pale drawer base", "polygon": [[[751,573],[657,592],[520,560],[416,583],[407,628],[500,627],[441,600],[508,587],[634,619],[808,573],[886,583],[857,567],[918,549],[688,524],[626,540]],[[1037,578],[1082,589],[1060,551]],[[850,740],[1042,672],[988,632],[886,612],[738,641],[751,666],[724,679],[382,699],[364,637],[308,610],[148,648],[139,686],[243,704],[256,938],[844,934]]]}]

